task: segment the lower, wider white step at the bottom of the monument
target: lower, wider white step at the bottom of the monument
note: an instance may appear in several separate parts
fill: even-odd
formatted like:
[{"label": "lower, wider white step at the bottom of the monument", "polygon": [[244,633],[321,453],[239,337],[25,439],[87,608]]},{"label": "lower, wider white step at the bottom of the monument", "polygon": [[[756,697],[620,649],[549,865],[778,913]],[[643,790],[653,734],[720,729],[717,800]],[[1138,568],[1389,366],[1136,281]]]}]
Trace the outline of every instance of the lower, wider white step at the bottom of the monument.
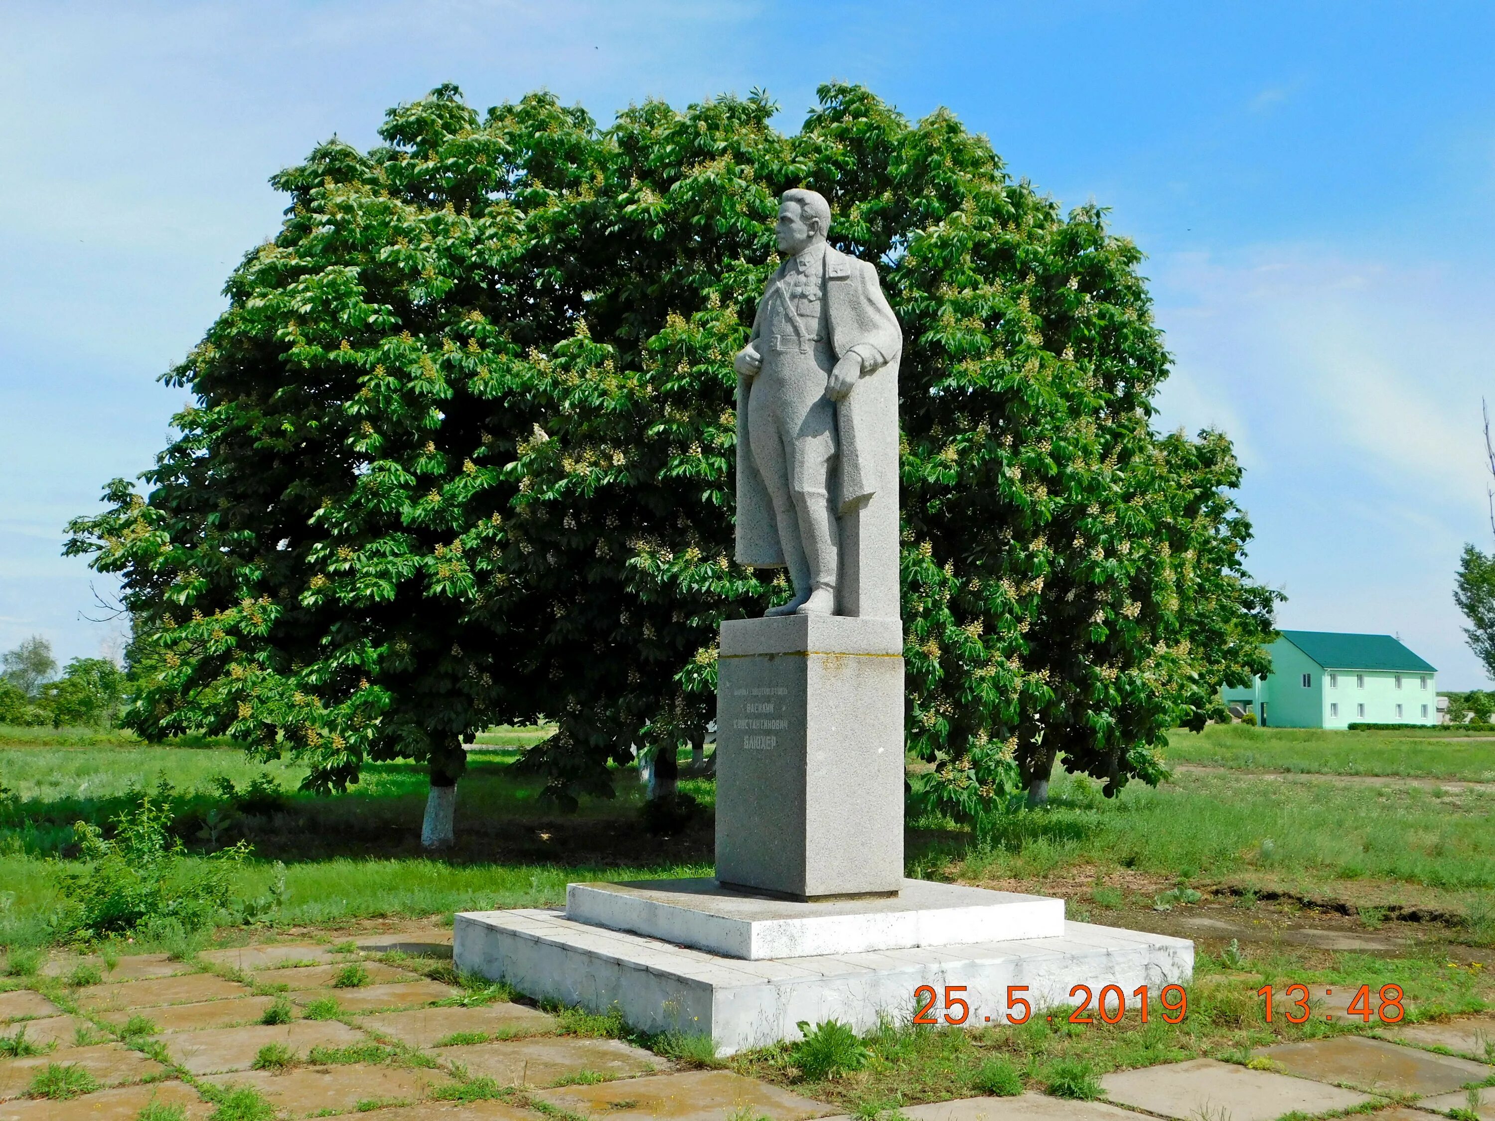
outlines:
[{"label": "lower, wider white step at the bottom of the monument", "polygon": [[[825,904],[810,904],[822,907]],[[1054,937],[970,942],[791,958],[728,958],[568,919],[555,910],[459,913],[457,969],[502,979],[537,1000],[604,1012],[614,1004],[646,1031],[710,1036],[721,1054],[800,1039],[798,1022],[839,1019],[858,1031],[882,1016],[906,1021],[915,989],[946,986],[970,1006],[966,1024],[1002,1022],[1009,986],[1035,1010],[1072,1004],[1070,988],[1130,994],[1193,975],[1192,942],[1064,922]],[[958,1013],[957,1013],[958,1015]]]}]

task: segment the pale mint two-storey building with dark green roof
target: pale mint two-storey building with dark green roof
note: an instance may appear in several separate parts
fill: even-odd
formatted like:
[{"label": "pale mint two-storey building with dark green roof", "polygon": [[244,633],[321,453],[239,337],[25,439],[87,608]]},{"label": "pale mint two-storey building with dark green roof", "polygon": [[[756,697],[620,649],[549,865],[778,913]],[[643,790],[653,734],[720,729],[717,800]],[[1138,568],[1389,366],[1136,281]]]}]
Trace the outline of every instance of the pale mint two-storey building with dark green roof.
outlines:
[{"label": "pale mint two-storey building with dark green roof", "polygon": [[1347,728],[1351,723],[1437,723],[1437,674],[1389,634],[1278,631],[1272,673],[1226,704],[1274,728]]}]

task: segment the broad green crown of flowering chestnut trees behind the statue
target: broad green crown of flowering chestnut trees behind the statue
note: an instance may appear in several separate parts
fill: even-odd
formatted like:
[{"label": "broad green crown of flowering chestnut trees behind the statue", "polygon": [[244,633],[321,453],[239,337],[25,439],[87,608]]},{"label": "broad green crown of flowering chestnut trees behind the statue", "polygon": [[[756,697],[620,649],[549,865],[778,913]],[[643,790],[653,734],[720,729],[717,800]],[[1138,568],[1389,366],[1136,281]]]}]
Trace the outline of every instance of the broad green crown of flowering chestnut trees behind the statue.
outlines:
[{"label": "broad green crown of flowering chestnut trees behind the statue", "polygon": [[1274,595],[1224,436],[1156,436],[1168,356],[1103,212],[1067,217],[939,111],[827,85],[798,135],[753,94],[547,94],[478,117],[453,87],[275,176],[274,242],[169,375],[193,393],[147,492],[70,553],[138,620],[126,722],[462,770],[493,722],[568,806],[605,764],[692,741],[724,617],[776,587],[731,558],[736,375],[777,194],[831,199],[903,324],[909,744],[972,818],[1055,752],[1156,782],[1175,722],[1268,668]]}]

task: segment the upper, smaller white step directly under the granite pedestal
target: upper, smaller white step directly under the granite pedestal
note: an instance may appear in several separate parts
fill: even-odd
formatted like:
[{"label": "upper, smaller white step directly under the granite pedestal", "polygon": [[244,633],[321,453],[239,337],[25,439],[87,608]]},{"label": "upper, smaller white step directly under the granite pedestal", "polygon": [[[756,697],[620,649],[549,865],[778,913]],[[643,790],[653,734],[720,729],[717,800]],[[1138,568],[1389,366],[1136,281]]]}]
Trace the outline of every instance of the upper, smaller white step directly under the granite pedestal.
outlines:
[{"label": "upper, smaller white step directly under the granite pedestal", "polygon": [[1057,937],[1064,901],[904,879],[896,898],[764,898],[715,879],[571,883],[568,919],[759,961],[966,942]]}]

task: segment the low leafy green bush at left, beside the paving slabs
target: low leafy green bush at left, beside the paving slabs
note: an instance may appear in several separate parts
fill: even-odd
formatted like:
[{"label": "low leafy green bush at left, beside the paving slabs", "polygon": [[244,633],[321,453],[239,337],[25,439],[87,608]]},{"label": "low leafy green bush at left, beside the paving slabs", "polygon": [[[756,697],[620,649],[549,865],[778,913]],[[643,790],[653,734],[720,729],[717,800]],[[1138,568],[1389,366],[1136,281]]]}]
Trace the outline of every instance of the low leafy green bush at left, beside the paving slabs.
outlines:
[{"label": "low leafy green bush at left, beside the paving slabs", "polygon": [[233,898],[235,865],[248,855],[242,841],[206,858],[188,858],[169,834],[170,812],[142,795],[114,821],[114,837],[88,822],[73,828],[79,862],[60,876],[67,927],[100,936],[157,927],[197,931]]}]

